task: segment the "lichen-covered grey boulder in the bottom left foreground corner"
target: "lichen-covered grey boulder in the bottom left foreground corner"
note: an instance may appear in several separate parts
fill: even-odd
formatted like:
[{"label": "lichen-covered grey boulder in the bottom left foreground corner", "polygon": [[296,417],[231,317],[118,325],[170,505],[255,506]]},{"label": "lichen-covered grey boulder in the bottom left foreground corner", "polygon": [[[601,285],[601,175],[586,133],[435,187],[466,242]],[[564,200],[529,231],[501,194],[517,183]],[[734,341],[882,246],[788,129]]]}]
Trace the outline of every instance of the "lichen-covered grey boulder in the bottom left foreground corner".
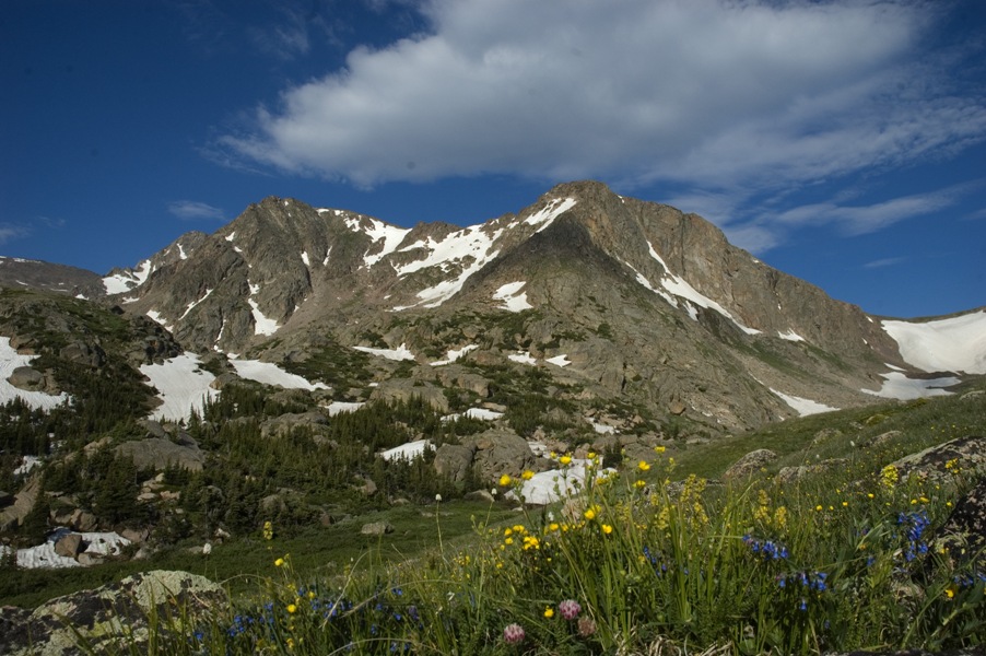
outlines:
[{"label": "lichen-covered grey boulder in the bottom left foreground corner", "polygon": [[[51,599],[34,611],[0,609],[0,653],[9,656],[146,653],[149,617],[180,623],[183,618],[221,608],[227,601],[223,587],[202,576],[162,570],[143,572],[96,589]],[[175,640],[184,640],[181,635],[184,632],[178,631]],[[163,645],[159,644],[157,648]]]}]

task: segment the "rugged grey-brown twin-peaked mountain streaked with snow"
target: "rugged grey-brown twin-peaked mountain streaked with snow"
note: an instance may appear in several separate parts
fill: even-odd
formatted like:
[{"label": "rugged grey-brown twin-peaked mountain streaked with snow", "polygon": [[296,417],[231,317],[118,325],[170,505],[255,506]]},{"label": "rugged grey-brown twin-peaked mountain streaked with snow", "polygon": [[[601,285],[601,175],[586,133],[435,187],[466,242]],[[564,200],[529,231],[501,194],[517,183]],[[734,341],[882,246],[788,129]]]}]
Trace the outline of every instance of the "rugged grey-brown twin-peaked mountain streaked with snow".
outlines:
[{"label": "rugged grey-brown twin-peaked mountain streaked with snow", "polygon": [[[470,227],[267,198],[104,286],[200,352],[282,363],[403,347],[426,365],[466,349],[467,363],[540,366],[585,398],[625,397],[714,432],[791,415],[793,402],[865,402],[884,363],[906,367],[858,307],[695,214],[591,181]],[[378,364],[377,377],[391,373]]]}]

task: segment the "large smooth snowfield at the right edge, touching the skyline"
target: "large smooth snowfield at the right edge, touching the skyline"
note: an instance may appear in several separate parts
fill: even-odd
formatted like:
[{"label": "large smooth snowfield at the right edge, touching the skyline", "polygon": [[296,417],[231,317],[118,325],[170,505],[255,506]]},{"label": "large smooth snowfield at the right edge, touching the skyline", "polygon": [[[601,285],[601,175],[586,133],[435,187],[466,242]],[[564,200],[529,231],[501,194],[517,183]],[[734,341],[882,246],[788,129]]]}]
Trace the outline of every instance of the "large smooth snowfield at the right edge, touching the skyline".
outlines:
[{"label": "large smooth snowfield at the right edge, touching the skyline", "polygon": [[881,321],[904,362],[925,372],[986,374],[986,311],[937,321]]}]

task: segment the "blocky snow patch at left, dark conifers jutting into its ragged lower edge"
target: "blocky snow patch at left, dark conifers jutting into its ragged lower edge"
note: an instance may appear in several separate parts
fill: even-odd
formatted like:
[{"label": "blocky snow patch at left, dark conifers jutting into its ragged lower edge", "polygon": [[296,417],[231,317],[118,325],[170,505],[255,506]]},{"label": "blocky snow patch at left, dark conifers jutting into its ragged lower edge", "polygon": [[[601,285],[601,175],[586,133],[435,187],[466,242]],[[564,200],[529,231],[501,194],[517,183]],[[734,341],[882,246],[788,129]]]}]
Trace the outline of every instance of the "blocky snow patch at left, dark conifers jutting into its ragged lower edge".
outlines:
[{"label": "blocky snow patch at left, dark conifers jutting into its ragged lower edge", "polygon": [[140,365],[140,373],[151,379],[163,401],[151,419],[180,421],[188,419],[192,410],[201,414],[206,399],[219,396],[211,387],[215,376],[201,370],[201,364],[198,355],[183,353],[163,364]]}]

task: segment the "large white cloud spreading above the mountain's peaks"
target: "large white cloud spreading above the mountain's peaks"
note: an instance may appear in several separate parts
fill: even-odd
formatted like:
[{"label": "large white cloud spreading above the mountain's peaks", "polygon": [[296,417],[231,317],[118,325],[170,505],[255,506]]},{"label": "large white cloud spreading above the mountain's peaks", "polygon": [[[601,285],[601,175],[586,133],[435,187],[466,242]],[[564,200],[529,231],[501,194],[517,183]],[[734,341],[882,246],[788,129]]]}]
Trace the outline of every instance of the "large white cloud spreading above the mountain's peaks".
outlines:
[{"label": "large white cloud spreading above the mountain's peaks", "polygon": [[506,173],[777,189],[986,134],[986,107],[925,49],[941,7],[431,0],[429,33],[354,49],[221,144],[367,187]]}]

